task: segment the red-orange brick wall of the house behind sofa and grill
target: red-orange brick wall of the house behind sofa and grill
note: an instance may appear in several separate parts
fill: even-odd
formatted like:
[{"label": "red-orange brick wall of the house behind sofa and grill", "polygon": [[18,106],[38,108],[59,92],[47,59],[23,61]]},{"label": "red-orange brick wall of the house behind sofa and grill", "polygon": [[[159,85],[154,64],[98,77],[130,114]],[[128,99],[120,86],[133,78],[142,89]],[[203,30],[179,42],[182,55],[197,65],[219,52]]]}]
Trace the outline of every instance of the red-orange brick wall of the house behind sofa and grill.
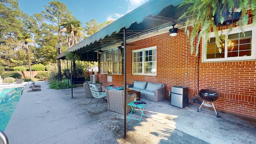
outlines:
[{"label": "red-orange brick wall of the house behind sofa and grill", "polygon": [[[157,75],[133,75],[132,50],[152,46],[157,47]],[[195,53],[190,53],[190,38],[187,42],[184,29],[180,29],[174,37],[166,32],[129,43],[126,46],[126,82],[164,83],[166,99],[172,86],[186,85],[189,87],[189,99],[192,99],[198,95],[198,63],[199,89],[210,87],[220,94],[214,102],[217,111],[256,118],[256,61],[202,63],[201,53],[200,47],[198,63]],[[123,75],[112,74],[114,86],[122,86],[123,80]]]}]

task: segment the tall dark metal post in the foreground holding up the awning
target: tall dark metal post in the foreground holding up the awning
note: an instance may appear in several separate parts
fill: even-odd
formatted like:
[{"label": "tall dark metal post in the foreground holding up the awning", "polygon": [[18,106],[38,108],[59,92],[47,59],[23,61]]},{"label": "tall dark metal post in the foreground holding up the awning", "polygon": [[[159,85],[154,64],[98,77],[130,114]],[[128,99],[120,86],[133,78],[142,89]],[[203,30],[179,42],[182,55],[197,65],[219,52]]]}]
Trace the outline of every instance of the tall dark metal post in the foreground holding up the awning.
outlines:
[{"label": "tall dark metal post in the foreground holding up the awning", "polygon": [[126,138],[126,29],[124,28],[124,139]]}]

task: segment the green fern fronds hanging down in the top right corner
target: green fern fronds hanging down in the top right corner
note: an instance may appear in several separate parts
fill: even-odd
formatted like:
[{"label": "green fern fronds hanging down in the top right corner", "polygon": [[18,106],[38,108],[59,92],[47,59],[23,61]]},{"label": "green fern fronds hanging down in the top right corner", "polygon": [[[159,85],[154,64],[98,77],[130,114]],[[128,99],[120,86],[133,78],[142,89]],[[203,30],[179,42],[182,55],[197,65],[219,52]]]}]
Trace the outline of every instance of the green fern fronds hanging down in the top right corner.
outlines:
[{"label": "green fern fronds hanging down in the top right corner", "polygon": [[[227,8],[226,10],[230,12],[230,15],[234,14],[234,12],[242,13],[242,19],[236,22],[236,25],[240,28],[242,33],[244,33],[243,26],[247,25],[249,21],[248,8],[252,14],[253,24],[256,19],[256,0],[184,0],[180,6],[183,5],[187,5],[188,8],[179,19],[188,17],[185,32],[190,35],[191,54],[194,52],[194,40],[196,36],[198,36],[195,50],[196,55],[198,54],[198,47],[202,38],[204,40],[204,48],[206,49],[205,52],[207,52],[207,44],[208,41],[210,41],[211,32],[214,32],[216,46],[219,48],[219,52],[221,52],[220,44],[223,40],[227,40],[226,36],[222,34],[222,31],[219,31],[226,28],[226,26],[223,28],[218,27],[222,26],[224,22],[222,12],[225,10],[222,9],[221,6]],[[213,17],[214,14],[218,16],[218,13],[221,24],[216,26]],[[192,26],[191,32],[188,30],[189,26]],[[228,34],[232,32],[232,29],[233,24],[231,22],[230,25],[228,25]]]}]

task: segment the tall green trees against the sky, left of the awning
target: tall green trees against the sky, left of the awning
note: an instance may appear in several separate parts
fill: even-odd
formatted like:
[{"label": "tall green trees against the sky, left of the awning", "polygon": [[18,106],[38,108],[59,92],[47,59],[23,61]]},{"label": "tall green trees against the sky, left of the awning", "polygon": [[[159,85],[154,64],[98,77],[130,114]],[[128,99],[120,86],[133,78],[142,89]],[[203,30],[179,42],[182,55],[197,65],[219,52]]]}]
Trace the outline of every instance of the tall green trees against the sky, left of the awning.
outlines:
[{"label": "tall green trees against the sky, left of the awning", "polygon": [[0,0],[0,66],[5,70],[31,63],[56,63],[57,44],[62,52],[113,21],[77,20],[66,5],[52,1],[32,16],[19,8],[18,0]]}]

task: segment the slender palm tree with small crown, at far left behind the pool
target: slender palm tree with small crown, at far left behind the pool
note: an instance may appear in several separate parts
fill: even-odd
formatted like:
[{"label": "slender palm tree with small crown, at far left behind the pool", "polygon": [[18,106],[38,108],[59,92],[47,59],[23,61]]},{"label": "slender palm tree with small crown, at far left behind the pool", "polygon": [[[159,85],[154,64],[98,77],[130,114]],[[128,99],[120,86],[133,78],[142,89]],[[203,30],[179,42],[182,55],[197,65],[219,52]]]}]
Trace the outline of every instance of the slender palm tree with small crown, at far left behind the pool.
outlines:
[{"label": "slender palm tree with small crown, at far left behind the pool", "polygon": [[31,72],[30,53],[29,53],[29,46],[28,46],[28,43],[32,42],[32,40],[30,38],[32,38],[32,36],[29,32],[22,32],[22,34],[18,34],[18,40],[23,41],[21,46],[26,49],[26,55],[28,58],[28,67],[29,67],[29,72],[30,72],[30,79],[31,79],[32,72]]}]

